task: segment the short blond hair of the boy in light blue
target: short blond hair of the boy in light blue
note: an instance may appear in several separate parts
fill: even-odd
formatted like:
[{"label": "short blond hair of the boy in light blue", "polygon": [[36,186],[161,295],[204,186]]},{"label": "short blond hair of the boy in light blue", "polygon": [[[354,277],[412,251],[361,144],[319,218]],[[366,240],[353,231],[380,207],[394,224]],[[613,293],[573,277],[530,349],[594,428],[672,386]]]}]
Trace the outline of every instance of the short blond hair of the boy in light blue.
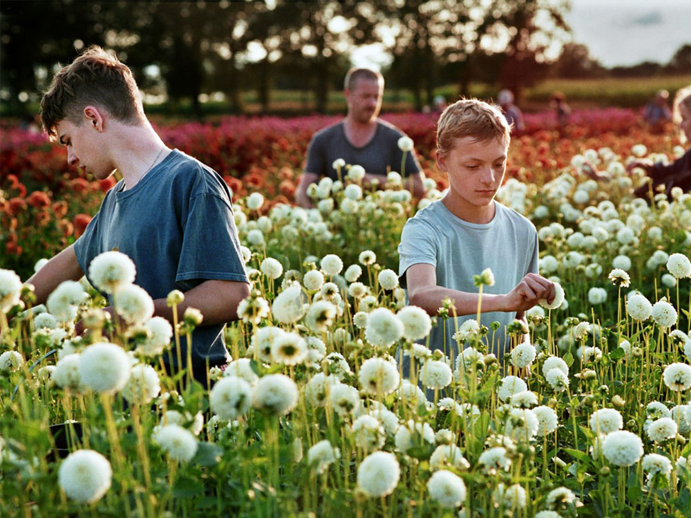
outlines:
[{"label": "short blond hair of the boy in light blue", "polygon": [[511,140],[511,128],[506,117],[493,104],[479,99],[461,99],[451,104],[437,122],[437,149],[448,153],[455,140],[471,137],[478,142]]}]

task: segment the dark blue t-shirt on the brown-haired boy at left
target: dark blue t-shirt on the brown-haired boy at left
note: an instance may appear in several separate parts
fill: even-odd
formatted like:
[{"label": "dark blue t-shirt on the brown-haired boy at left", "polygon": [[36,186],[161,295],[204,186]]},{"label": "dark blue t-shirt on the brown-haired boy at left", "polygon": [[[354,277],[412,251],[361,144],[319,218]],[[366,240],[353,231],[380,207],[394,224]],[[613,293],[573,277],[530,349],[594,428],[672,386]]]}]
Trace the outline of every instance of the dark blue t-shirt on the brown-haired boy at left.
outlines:
[{"label": "dark blue t-shirt on the brown-haired boy at left", "polygon": [[[75,242],[82,271],[88,274],[93,258],[116,249],[133,260],[135,284],[153,299],[210,279],[248,282],[231,195],[213,169],[174,150],[132,189],[124,191],[124,186],[120,180],[108,191],[101,209]],[[191,355],[195,371],[205,369],[207,358],[211,366],[225,363],[224,327],[195,329]],[[187,340],[181,338],[185,358]]]}]

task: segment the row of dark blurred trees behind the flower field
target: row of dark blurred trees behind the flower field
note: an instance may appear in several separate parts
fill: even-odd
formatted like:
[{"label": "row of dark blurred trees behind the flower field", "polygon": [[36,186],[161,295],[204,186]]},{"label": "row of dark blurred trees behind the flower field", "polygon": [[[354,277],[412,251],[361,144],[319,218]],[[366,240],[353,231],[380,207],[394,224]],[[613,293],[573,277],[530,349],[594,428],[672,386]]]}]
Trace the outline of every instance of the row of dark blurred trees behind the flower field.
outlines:
[{"label": "row of dark blurred trees behind the flower field", "polygon": [[[0,109],[35,114],[59,64],[92,44],[117,52],[155,110],[195,117],[211,106],[340,110],[333,95],[362,46],[380,48],[390,106],[408,106],[399,102],[408,92],[417,111],[439,93],[478,95],[478,85],[520,100],[545,78],[690,73],[691,44],[668,64],[603,68],[569,41],[568,10],[569,0],[3,0]],[[561,54],[550,57],[555,46]]]}]

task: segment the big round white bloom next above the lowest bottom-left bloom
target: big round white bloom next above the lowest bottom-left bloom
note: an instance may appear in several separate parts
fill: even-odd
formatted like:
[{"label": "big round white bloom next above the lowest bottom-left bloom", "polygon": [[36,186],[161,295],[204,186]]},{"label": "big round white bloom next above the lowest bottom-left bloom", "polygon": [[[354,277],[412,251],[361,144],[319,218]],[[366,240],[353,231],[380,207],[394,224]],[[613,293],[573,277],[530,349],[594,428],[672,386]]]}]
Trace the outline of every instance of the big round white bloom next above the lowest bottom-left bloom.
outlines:
[{"label": "big round white bloom next above the lowest bottom-left bloom", "polygon": [[79,355],[79,378],[96,392],[118,392],[130,375],[130,358],[120,345],[99,342]]}]

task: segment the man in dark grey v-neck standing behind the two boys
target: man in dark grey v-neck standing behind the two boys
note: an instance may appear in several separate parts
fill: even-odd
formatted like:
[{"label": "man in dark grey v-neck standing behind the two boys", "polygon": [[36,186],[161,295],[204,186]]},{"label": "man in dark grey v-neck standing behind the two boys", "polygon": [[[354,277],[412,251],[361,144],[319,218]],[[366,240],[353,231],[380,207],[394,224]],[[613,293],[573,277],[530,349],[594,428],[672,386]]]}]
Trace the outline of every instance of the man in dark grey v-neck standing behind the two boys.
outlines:
[{"label": "man in dark grey v-neck standing behind the two boys", "polygon": [[[398,146],[403,131],[379,119],[381,98],[384,94],[384,77],[368,68],[352,68],[345,75],[343,93],[348,104],[348,113],[337,124],[328,126],[314,134],[307,148],[307,162],[296,191],[296,202],[301,207],[312,207],[307,187],[319,178],[339,178],[334,162],[343,159],[346,164],[359,165],[365,169],[364,184],[376,180],[386,182],[389,171],[405,176],[405,186],[417,198],[424,195],[422,168],[415,150],[406,153],[405,171],[401,171],[403,151]],[[345,177],[345,169],[341,177]]]}]

